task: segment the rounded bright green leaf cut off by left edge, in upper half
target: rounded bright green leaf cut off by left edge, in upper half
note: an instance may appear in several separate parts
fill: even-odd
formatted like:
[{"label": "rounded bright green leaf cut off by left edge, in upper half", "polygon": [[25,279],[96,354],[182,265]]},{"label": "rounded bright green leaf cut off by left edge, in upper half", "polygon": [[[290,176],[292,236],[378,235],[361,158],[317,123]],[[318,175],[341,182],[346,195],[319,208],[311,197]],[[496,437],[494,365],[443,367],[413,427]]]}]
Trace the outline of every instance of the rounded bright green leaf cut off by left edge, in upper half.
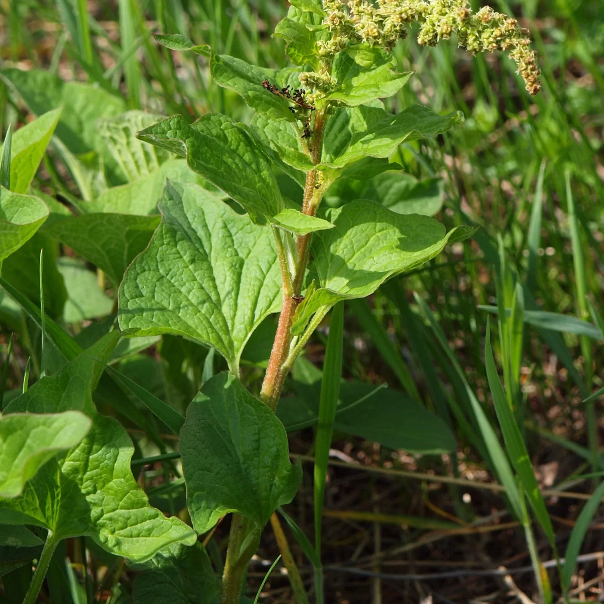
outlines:
[{"label": "rounded bright green leaf cut off by left edge, in upper half", "polygon": [[48,213],[41,199],[0,187],[0,262],[33,237]]}]

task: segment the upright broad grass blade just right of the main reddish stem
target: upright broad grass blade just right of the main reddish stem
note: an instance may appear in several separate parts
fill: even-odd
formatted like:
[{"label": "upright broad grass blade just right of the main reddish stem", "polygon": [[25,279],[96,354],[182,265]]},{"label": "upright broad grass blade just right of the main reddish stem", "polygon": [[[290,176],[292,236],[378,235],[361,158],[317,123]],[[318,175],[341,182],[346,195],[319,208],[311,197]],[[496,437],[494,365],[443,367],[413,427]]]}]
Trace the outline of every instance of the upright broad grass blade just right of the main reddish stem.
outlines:
[{"label": "upright broad grass blade just right of the main reddish stem", "polygon": [[327,461],[332,445],[333,422],[338,405],[339,387],[342,379],[342,344],[344,339],[344,302],[333,309],[329,338],[325,350],[323,381],[321,381],[321,399],[319,403],[319,423],[315,440],[315,549],[321,556],[321,515],[325,483],[327,480]]}]

